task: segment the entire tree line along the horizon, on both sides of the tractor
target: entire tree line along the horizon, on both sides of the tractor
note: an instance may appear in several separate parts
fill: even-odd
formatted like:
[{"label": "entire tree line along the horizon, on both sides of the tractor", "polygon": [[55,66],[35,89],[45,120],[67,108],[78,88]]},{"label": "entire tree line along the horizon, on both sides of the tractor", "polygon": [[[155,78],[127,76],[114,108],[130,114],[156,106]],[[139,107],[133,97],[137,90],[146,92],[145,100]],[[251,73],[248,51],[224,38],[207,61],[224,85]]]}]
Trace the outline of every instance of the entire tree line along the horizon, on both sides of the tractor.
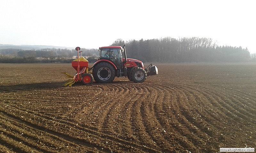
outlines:
[{"label": "entire tree line along the horizon, on both sides of the tractor", "polygon": [[[150,40],[117,39],[111,46],[126,45],[127,56],[143,62],[256,62],[256,54],[247,48],[218,46],[210,38],[171,37]],[[99,56],[97,49],[81,48],[89,62]],[[44,48],[40,50],[0,49],[0,63],[71,62],[75,49]]]}]

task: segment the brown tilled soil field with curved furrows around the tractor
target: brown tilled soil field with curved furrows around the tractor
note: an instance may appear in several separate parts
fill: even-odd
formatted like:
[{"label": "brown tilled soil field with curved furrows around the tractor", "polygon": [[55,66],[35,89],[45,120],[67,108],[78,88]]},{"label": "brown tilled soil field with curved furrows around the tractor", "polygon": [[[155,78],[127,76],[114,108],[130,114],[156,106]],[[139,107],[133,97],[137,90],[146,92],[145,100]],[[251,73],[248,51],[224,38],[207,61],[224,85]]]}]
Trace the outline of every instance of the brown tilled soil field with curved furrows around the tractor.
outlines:
[{"label": "brown tilled soil field with curved furrows around the tractor", "polygon": [[0,152],[255,148],[256,65],[156,65],[141,84],[63,87],[71,64],[0,64]]}]

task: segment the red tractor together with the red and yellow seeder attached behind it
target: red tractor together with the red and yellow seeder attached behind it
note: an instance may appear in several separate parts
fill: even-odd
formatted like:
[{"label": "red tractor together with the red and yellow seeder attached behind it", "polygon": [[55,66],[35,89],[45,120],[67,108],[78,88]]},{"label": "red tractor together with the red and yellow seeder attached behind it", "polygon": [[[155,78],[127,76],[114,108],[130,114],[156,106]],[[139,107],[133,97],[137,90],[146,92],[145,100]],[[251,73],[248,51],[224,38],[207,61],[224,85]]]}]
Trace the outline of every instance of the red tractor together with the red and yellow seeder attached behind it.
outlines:
[{"label": "red tractor together with the red and yellow seeder attached behind it", "polygon": [[[155,65],[148,65],[144,68],[143,62],[126,57],[125,45],[100,47],[100,57],[92,66],[92,74],[88,73],[88,61],[82,57],[80,47],[76,47],[77,59],[72,61],[72,66],[76,69],[77,74],[71,76],[66,72],[70,79],[65,86],[72,86],[77,81],[82,81],[84,84],[92,84],[94,79],[97,83],[111,83],[115,77],[128,77],[130,81],[141,83],[144,82],[147,76],[158,74]],[[81,53],[81,57],[79,57]]]}]

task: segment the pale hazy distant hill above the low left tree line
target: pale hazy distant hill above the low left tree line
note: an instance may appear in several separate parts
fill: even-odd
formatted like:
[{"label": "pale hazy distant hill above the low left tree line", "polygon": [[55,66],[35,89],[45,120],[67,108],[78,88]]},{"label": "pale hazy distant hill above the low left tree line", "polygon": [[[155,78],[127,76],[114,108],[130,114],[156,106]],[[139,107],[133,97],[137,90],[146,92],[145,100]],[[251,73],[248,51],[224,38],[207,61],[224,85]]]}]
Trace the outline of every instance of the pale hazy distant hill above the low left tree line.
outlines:
[{"label": "pale hazy distant hill above the low left tree line", "polygon": [[[8,48],[13,48],[13,49],[22,49],[22,50],[40,50],[43,48],[60,48],[60,49],[75,49],[75,47],[61,47],[61,46],[46,46],[46,45],[7,45],[7,44],[0,44],[0,49],[8,49]],[[91,49],[91,48],[86,48],[86,49]]]}]

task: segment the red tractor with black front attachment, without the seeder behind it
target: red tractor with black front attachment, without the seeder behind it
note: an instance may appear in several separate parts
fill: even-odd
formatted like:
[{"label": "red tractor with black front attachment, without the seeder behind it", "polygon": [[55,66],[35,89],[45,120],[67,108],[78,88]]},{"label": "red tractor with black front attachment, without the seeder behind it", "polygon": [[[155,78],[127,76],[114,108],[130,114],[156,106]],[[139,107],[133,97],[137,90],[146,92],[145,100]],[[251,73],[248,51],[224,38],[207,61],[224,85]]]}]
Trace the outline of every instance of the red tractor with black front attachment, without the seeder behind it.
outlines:
[{"label": "red tractor with black front attachment, without the seeder behind it", "polygon": [[100,58],[92,66],[92,75],[98,83],[110,83],[115,77],[128,77],[130,81],[141,83],[149,75],[158,74],[157,67],[150,64],[144,68],[143,62],[126,57],[125,45],[100,47]]}]

